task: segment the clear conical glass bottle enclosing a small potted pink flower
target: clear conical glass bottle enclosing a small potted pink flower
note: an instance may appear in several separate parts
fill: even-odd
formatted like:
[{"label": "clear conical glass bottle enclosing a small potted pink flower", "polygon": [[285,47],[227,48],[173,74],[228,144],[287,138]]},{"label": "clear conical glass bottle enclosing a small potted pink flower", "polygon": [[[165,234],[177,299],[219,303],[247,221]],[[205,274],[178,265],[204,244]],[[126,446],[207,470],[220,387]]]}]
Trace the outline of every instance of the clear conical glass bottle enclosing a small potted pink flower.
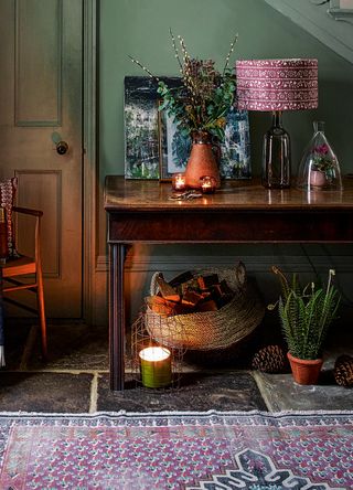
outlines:
[{"label": "clear conical glass bottle enclosing a small potted pink flower", "polygon": [[324,122],[313,122],[313,137],[298,170],[297,184],[304,191],[341,191],[339,160],[324,134]]}]

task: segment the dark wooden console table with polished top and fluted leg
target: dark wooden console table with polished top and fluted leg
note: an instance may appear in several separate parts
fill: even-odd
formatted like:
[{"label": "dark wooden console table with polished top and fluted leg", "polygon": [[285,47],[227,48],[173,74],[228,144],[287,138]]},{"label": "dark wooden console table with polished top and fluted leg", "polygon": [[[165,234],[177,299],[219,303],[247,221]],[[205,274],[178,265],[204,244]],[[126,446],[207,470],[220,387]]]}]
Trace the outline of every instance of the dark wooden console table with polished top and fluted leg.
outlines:
[{"label": "dark wooden console table with polished top and fluted leg", "polygon": [[126,246],[136,243],[353,242],[353,180],[343,192],[267,190],[223,183],[213,195],[170,200],[171,184],[109,175],[105,185],[109,245],[110,388],[124,390]]}]

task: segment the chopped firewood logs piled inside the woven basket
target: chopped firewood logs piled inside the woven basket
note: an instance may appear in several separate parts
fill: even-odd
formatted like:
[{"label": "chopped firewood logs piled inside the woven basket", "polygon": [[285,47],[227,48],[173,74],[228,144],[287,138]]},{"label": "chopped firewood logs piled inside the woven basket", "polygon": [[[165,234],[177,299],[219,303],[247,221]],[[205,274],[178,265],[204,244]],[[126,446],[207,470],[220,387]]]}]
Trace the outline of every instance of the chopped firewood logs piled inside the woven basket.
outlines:
[{"label": "chopped firewood logs piled inside the woven basket", "polygon": [[157,285],[158,292],[147,298],[147,305],[167,317],[217,311],[234,297],[226,280],[220,280],[217,274],[194,276],[186,271],[168,283],[160,273]]}]

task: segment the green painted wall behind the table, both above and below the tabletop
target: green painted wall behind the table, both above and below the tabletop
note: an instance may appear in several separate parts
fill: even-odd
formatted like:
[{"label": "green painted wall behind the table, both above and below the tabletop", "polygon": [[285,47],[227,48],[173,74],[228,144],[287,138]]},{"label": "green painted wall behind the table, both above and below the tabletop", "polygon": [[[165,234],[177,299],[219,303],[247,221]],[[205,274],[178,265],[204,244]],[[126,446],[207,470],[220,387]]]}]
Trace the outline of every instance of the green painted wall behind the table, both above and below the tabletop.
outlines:
[{"label": "green painted wall behind the table, both above and below the tabletop", "polygon": [[[328,138],[343,170],[353,172],[353,65],[278,13],[265,0],[100,0],[100,193],[106,174],[124,174],[124,77],[143,75],[129,61],[128,54],[139,58],[156,74],[178,75],[169,28],[185,39],[193,55],[212,57],[220,67],[235,33],[239,34],[235,51],[239,58],[317,57],[319,109],[285,115],[285,125],[292,138],[293,169],[311,138],[312,120],[320,118],[327,121]],[[260,172],[261,139],[269,124],[268,114],[250,114],[254,174]],[[99,209],[99,255],[104,256],[106,216],[103,205]],[[146,294],[148,275],[153,268],[162,267],[167,276],[173,276],[188,268],[188,264],[192,267],[193,257],[199,260],[197,266],[203,258],[205,264],[211,257],[221,262],[229,257],[229,263],[244,258],[248,270],[259,277],[267,295],[276,287],[276,280],[268,273],[271,264],[308,273],[309,277],[314,270],[324,273],[325,277],[327,268],[335,267],[346,276],[340,279],[340,286],[346,283],[346,290],[351,289],[350,248],[298,244],[135,248],[138,260],[135,271],[129,275],[136,302],[132,310],[138,310],[143,291]],[[142,260],[141,264],[139,260]]]}]

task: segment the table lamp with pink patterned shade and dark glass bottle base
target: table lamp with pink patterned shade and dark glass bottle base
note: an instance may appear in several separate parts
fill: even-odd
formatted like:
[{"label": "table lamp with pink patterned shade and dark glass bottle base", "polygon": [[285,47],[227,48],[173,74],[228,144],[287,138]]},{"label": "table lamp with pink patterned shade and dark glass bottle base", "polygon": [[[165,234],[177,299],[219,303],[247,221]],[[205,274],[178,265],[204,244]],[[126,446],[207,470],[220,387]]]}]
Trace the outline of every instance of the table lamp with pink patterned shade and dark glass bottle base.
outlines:
[{"label": "table lamp with pink patterned shade and dark glass bottle base", "polygon": [[236,79],[239,109],[272,111],[272,126],[264,136],[263,185],[289,188],[290,137],[282,111],[318,107],[318,60],[239,60]]}]

